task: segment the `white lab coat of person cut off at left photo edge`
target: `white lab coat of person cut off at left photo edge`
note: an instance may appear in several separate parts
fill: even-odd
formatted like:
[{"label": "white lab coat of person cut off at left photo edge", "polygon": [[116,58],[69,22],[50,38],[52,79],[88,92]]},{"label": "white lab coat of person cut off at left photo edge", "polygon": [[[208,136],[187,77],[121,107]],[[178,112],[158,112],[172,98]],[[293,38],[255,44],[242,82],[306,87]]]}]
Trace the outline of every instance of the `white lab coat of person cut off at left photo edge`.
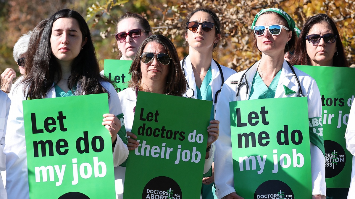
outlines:
[{"label": "white lab coat of person cut off at left photo edge", "polygon": [[[6,93],[0,91],[0,171],[3,174],[6,174],[6,156],[4,154],[4,147],[5,147],[5,133],[6,133],[6,122],[9,116],[11,100],[6,95]],[[5,185],[3,184],[2,176],[0,174],[0,198],[6,199],[6,189]]]}]

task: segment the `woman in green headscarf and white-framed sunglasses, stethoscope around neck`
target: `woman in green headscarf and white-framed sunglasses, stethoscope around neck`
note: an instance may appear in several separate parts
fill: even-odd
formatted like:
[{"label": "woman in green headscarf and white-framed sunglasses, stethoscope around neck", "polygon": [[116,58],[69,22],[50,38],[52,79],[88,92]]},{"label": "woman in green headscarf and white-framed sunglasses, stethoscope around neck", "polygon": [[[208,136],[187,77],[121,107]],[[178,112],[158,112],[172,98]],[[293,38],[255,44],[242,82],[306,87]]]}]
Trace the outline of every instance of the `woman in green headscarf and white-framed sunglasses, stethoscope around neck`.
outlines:
[{"label": "woman in green headscarf and white-framed sunglasses, stethoscope around neck", "polygon": [[[230,76],[222,88],[217,104],[216,119],[221,122],[220,136],[216,142],[215,184],[219,199],[223,197],[241,199],[237,195],[238,190],[234,189],[229,102],[297,97],[301,91],[308,99],[308,117],[320,118],[322,113],[321,96],[315,80],[284,60],[285,52],[292,51],[296,42],[293,19],[278,8],[267,8],[255,16],[252,28],[254,46],[262,52],[261,60],[253,64],[249,70]],[[241,80],[243,74],[248,82],[245,79]],[[238,96],[236,96],[238,85],[231,84],[234,80],[247,84],[240,87]],[[289,89],[295,92],[287,92]],[[324,145],[322,137],[312,135],[312,131],[310,139],[312,198],[324,199],[326,198],[325,159],[322,152]]]}]

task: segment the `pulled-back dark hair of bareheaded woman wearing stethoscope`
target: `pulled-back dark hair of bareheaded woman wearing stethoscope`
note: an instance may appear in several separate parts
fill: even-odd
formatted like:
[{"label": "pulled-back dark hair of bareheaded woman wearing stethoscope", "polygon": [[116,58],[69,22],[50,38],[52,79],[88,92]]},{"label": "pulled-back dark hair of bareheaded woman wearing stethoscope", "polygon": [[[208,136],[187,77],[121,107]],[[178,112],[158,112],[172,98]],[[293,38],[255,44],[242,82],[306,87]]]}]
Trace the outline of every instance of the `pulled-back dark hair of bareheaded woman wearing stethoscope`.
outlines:
[{"label": "pulled-back dark hair of bareheaded woman wearing stethoscope", "polygon": [[[223,34],[223,29],[221,27],[221,20],[218,18],[218,16],[216,15],[215,12],[213,12],[212,10],[208,9],[208,8],[197,8],[195,10],[193,10],[192,12],[190,12],[186,17],[185,17],[185,20],[184,20],[184,23],[182,24],[182,29],[184,30],[184,32],[182,32],[182,38],[185,38],[185,35],[187,34],[187,31],[189,29],[187,29],[187,26],[186,26],[186,23],[187,22],[190,22],[190,19],[193,15],[195,15],[196,12],[206,12],[207,14],[209,14],[209,16],[212,17],[213,19],[213,23],[215,25],[215,27],[217,28],[217,31],[216,31],[216,34]],[[186,41],[185,41],[186,42]],[[219,45],[219,43],[222,42],[222,38],[215,44],[213,44],[213,51],[215,51],[215,47],[217,47]],[[186,42],[187,43],[187,42]],[[188,44],[188,43],[187,43]]]}]

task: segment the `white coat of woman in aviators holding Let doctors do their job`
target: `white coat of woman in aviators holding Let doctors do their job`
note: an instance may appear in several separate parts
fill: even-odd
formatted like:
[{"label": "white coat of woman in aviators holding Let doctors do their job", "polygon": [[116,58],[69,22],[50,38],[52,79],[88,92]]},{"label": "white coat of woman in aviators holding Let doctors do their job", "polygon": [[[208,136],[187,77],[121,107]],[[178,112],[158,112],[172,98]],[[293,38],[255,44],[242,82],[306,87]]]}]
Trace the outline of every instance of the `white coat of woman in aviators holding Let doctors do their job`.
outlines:
[{"label": "white coat of woman in aviators holding Let doctors do their job", "polygon": [[[137,103],[136,91],[135,89],[127,88],[125,90],[120,91],[118,93],[118,96],[120,97],[121,106],[124,114],[126,131],[132,131],[132,125],[134,119],[133,108],[136,106]],[[207,173],[212,166],[214,149],[215,149],[214,144],[211,144],[209,157],[204,161],[203,173]]]}]

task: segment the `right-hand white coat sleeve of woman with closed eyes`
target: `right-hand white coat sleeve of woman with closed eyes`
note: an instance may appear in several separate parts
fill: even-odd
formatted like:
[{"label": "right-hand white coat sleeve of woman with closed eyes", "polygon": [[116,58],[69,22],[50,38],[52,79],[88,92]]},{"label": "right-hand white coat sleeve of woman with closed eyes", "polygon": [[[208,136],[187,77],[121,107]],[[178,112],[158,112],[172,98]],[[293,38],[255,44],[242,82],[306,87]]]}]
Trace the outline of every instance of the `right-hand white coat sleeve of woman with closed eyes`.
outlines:
[{"label": "right-hand white coat sleeve of woman with closed eyes", "polygon": [[[119,115],[122,113],[120,98],[118,97],[115,88],[110,83],[105,82],[105,84],[107,84],[105,85],[105,88],[110,93],[109,112],[114,115]],[[124,163],[128,157],[128,153],[127,145],[123,143],[119,136],[117,136],[116,145],[113,151],[114,166],[119,166]]]}]

